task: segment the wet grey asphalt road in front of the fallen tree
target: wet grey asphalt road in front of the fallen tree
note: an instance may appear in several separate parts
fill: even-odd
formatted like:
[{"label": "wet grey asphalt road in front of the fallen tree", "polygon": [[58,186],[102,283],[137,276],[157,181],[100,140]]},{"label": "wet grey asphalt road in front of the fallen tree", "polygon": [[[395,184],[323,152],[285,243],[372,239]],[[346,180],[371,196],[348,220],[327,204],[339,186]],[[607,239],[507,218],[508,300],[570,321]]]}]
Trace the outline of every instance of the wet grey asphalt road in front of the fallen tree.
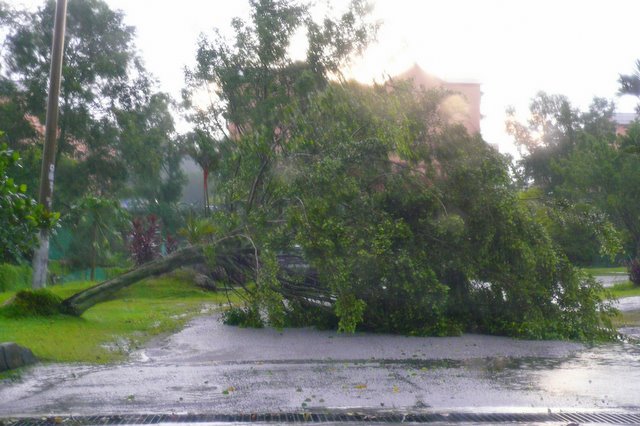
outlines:
[{"label": "wet grey asphalt road in front of the fallen tree", "polygon": [[640,345],[278,332],[228,327],[209,316],[152,342],[127,363],[37,365],[0,386],[0,417],[330,409],[638,412]]}]

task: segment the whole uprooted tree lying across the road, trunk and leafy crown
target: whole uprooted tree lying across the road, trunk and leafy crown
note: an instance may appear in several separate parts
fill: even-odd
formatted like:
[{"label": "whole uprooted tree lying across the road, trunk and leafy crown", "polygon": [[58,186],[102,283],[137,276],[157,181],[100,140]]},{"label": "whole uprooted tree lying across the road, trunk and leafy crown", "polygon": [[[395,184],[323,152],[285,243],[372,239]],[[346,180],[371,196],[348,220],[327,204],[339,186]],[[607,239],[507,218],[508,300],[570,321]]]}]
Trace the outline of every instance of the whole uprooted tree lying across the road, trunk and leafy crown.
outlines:
[{"label": "whole uprooted tree lying across the road, trunk and leafy crown", "polygon": [[[67,312],[206,261],[223,288],[244,289],[244,325],[323,325],[320,308],[346,332],[614,335],[601,286],[521,200],[509,160],[444,114],[445,94],[329,79],[369,38],[362,2],[328,26],[287,1],[252,4],[260,19],[236,21],[237,43],[202,40],[185,91],[220,88],[191,118],[220,143],[216,232],[246,235],[99,284]],[[288,41],[307,24],[309,57],[294,63]],[[277,256],[290,252],[306,266]]]}]

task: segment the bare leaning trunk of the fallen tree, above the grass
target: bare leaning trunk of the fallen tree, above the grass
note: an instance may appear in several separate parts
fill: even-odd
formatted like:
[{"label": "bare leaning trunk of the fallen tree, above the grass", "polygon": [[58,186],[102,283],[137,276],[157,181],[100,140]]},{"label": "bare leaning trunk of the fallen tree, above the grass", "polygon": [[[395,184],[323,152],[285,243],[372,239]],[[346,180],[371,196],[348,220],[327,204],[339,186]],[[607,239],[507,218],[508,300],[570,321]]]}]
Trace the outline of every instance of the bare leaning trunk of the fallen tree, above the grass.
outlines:
[{"label": "bare leaning trunk of the fallen tree, above the grass", "polygon": [[108,300],[118,290],[135,284],[145,278],[171,272],[174,269],[205,261],[204,250],[200,246],[178,250],[167,257],[156,259],[118,277],[104,281],[65,299],[62,309],[71,315],[82,315],[93,305]]}]

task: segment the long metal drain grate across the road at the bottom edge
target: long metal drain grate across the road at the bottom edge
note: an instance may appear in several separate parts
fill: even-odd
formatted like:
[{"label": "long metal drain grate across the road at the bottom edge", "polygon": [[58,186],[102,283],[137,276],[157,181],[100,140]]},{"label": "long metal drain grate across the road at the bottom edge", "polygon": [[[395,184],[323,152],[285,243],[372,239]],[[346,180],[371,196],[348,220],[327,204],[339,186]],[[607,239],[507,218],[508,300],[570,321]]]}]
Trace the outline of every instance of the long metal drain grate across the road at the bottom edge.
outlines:
[{"label": "long metal drain grate across the road at the bottom edge", "polygon": [[638,425],[640,413],[263,413],[148,414],[0,419],[0,426],[148,425],[159,423],[592,423]]}]

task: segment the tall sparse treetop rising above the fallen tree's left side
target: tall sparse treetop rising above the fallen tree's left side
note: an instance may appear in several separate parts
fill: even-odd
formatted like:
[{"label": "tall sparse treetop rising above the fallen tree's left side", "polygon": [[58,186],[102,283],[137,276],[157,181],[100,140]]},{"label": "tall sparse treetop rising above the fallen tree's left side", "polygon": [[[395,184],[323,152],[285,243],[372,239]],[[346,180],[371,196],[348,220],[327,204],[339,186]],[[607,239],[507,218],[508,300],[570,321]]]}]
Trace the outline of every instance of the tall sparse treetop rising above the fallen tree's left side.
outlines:
[{"label": "tall sparse treetop rising above the fallen tree's left side", "polygon": [[[377,26],[364,16],[368,5],[353,0],[347,11],[315,22],[309,6],[284,0],[251,0],[251,20],[234,19],[233,42],[219,33],[203,36],[196,66],[187,71],[184,91],[188,118],[212,140],[230,139],[236,153],[223,160],[227,201],[249,214],[268,199],[273,158],[286,150],[285,116],[292,102],[326,86],[329,76],[364,49]],[[305,62],[291,59],[291,40],[299,30],[308,38]],[[196,105],[197,94],[211,102]],[[242,155],[238,152],[242,150]]]}]

